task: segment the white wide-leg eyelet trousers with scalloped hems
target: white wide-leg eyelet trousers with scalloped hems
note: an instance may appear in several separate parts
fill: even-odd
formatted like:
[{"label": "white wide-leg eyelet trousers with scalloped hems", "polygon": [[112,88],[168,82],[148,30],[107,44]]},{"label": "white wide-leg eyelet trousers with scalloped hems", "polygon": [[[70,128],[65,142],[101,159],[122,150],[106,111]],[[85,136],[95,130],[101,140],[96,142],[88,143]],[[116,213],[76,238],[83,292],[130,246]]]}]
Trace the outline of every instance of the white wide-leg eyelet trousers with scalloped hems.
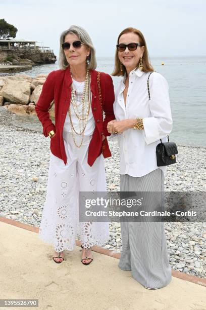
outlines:
[{"label": "white wide-leg eyelet trousers with scalloped hems", "polygon": [[[67,165],[50,153],[46,201],[38,236],[52,243],[57,252],[72,251],[76,237],[80,237],[85,248],[102,246],[110,237],[109,222],[79,222],[79,191],[106,191],[102,154],[91,167],[87,163],[91,137],[84,136],[78,148],[72,134],[63,132]],[[76,136],[78,145],[80,138]]]}]

